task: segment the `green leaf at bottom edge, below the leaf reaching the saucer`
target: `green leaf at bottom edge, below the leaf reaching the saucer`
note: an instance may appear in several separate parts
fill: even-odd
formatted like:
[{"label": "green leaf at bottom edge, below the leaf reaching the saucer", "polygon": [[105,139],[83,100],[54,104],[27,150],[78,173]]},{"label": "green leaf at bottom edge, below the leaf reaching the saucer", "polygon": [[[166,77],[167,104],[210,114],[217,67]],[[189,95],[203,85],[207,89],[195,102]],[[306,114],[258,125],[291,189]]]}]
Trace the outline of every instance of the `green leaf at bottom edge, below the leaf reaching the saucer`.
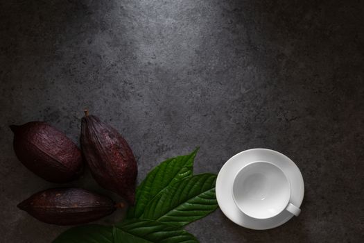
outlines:
[{"label": "green leaf at bottom edge, below the leaf reaching the saucer", "polygon": [[157,221],[131,219],[113,228],[115,243],[196,243],[196,237]]}]

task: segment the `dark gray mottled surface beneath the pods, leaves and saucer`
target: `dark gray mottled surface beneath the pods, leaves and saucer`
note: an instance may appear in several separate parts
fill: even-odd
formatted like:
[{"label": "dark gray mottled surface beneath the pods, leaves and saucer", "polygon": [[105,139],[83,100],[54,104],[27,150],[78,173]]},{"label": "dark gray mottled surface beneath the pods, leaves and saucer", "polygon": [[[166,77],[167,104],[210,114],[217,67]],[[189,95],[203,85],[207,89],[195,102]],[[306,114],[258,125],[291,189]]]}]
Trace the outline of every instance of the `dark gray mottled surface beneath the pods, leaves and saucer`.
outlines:
[{"label": "dark gray mottled surface beneath the pods, leaves and saucer", "polygon": [[[0,242],[66,228],[15,207],[54,185],[15,158],[8,125],[49,121],[77,141],[86,107],[130,142],[139,181],[196,146],[197,172],[254,147],[300,167],[300,217],[251,231],[217,210],[187,227],[200,242],[361,242],[364,6],[319,2],[1,1]],[[88,173],[73,184],[99,190]]]}]

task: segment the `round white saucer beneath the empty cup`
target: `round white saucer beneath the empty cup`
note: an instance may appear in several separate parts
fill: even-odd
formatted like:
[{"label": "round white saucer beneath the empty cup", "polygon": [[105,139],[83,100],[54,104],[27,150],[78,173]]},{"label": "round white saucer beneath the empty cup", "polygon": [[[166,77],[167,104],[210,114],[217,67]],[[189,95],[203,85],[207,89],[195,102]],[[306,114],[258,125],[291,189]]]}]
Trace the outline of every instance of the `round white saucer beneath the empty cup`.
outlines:
[{"label": "round white saucer beneath the empty cup", "polygon": [[293,215],[284,210],[270,219],[254,219],[245,215],[234,203],[232,185],[234,176],[245,165],[253,161],[268,161],[284,171],[291,183],[291,203],[300,207],[304,198],[304,181],[297,165],[282,153],[270,149],[249,149],[236,154],[220,169],[216,179],[216,199],[223,213],[235,224],[254,230],[266,230],[286,223]]}]

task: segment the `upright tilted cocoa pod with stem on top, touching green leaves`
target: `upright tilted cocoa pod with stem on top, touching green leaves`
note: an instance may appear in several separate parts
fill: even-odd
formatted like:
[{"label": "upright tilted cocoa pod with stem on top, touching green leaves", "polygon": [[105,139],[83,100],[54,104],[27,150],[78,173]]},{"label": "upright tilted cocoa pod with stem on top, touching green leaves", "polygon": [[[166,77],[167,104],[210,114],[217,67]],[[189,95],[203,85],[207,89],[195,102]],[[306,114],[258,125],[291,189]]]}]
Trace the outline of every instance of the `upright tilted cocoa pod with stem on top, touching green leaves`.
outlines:
[{"label": "upright tilted cocoa pod with stem on top, touching green leaves", "polygon": [[112,126],[85,113],[80,140],[92,176],[102,187],[134,204],[138,168],[130,146]]}]

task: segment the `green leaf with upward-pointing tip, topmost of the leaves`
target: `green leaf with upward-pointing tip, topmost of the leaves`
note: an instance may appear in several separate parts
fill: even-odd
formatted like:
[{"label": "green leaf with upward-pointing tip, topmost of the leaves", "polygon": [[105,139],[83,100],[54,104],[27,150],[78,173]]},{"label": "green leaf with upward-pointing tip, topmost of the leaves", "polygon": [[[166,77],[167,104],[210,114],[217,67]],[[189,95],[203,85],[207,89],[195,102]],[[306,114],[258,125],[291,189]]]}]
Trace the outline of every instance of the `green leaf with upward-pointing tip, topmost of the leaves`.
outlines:
[{"label": "green leaf with upward-pointing tip, topmost of the leaves", "polygon": [[197,151],[198,149],[187,156],[170,158],[150,171],[144,181],[137,187],[135,194],[136,204],[128,210],[128,218],[139,218],[143,214],[146,205],[157,194],[165,190],[168,185],[191,176],[193,160]]}]

